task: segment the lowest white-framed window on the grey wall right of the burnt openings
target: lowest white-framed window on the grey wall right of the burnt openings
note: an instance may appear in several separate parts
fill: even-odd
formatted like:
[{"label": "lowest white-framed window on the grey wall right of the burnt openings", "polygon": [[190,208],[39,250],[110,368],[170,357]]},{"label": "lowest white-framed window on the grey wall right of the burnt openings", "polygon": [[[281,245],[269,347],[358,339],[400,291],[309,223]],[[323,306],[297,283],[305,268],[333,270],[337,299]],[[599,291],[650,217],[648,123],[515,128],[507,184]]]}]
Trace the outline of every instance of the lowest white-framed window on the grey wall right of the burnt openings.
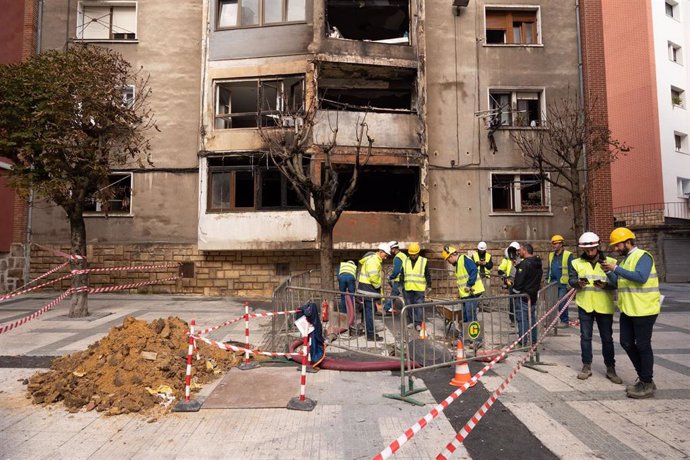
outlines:
[{"label": "lowest white-framed window on the grey wall right of the burnt openings", "polygon": [[547,182],[538,174],[491,174],[493,212],[546,212]]}]

